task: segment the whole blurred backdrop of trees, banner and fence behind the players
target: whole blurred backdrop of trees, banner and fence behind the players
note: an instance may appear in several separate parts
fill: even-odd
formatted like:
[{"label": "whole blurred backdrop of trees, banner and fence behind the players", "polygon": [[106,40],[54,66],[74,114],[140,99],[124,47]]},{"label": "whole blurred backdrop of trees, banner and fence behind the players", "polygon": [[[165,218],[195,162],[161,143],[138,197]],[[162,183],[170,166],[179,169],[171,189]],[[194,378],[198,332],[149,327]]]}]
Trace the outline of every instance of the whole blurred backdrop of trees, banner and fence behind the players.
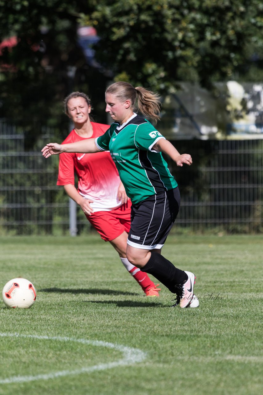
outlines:
[{"label": "whole blurred backdrop of trees, banner and fence behind the players", "polygon": [[194,165],[168,160],[182,204],[178,233],[263,231],[261,0],[0,0],[0,235],[91,232],[56,186],[42,147],[72,125],[63,99],[91,98],[110,123],[114,81],[161,95],[157,129]]}]

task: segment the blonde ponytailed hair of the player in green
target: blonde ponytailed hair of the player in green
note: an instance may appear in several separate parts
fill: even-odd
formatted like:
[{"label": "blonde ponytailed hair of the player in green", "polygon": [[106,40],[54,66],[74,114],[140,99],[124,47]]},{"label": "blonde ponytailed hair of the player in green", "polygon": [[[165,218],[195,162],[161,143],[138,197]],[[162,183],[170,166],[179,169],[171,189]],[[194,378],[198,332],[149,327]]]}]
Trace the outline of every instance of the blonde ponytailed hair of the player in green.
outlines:
[{"label": "blonde ponytailed hair of the player in green", "polygon": [[143,115],[155,120],[160,119],[160,96],[143,87],[134,88],[127,82],[116,82],[110,85],[105,93],[114,94],[120,102],[131,101],[132,110],[137,108]]}]

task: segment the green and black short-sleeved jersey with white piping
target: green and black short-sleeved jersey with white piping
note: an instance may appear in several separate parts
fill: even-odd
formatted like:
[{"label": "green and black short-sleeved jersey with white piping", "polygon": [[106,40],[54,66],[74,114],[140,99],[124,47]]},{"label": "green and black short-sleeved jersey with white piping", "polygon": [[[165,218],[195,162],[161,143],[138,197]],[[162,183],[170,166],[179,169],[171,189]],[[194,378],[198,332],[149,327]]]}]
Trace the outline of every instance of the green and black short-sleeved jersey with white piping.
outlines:
[{"label": "green and black short-sleeved jersey with white piping", "polygon": [[95,140],[100,150],[110,151],[133,204],[177,187],[162,154],[152,149],[164,138],[150,122],[134,114],[121,126],[114,122]]}]

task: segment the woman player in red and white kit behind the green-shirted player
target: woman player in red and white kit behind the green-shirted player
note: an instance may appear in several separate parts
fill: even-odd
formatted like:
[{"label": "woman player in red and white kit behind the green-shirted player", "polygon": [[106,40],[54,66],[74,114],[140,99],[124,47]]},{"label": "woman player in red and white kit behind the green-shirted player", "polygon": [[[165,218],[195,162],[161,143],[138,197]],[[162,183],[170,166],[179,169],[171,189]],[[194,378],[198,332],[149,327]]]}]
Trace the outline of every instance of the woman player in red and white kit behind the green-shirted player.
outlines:
[{"label": "woman player in red and white kit behind the green-shirted player", "polygon": [[[109,128],[109,125],[91,122],[91,102],[82,92],[69,94],[64,100],[64,110],[73,121],[74,129],[63,144],[99,137]],[[75,174],[78,189],[75,188]],[[114,246],[121,262],[140,284],[145,295],[159,296],[160,289],[147,273],[127,260],[131,200],[127,198],[110,153],[63,153],[60,155],[57,185],[62,185],[67,195],[80,205],[101,238]]]}]

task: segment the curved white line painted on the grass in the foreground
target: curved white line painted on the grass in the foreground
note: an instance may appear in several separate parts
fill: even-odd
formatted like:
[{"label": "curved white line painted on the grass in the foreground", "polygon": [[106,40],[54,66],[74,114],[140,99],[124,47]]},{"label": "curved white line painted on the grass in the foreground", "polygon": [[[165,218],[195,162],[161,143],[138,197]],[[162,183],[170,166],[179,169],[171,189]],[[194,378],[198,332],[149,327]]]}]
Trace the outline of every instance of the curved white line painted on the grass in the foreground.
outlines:
[{"label": "curved white line painted on the grass in the foreground", "polygon": [[12,384],[12,383],[23,383],[35,380],[49,380],[61,376],[72,376],[81,373],[90,373],[94,371],[102,371],[105,369],[111,369],[116,366],[131,365],[134,363],[142,362],[146,358],[146,353],[139,350],[138,348],[131,348],[126,346],[121,346],[119,344],[113,344],[108,342],[103,342],[100,340],[86,340],[86,339],[74,339],[71,337],[60,337],[60,336],[38,336],[38,335],[22,335],[19,333],[0,333],[0,337],[22,337],[26,339],[39,339],[39,340],[57,340],[60,342],[77,342],[82,344],[88,344],[90,346],[100,346],[106,348],[113,348],[123,353],[123,358],[115,362],[109,363],[99,363],[99,365],[94,365],[90,367],[83,367],[76,370],[65,370],[52,372],[47,374],[36,374],[34,376],[11,376],[8,378],[0,379],[0,384]]}]

